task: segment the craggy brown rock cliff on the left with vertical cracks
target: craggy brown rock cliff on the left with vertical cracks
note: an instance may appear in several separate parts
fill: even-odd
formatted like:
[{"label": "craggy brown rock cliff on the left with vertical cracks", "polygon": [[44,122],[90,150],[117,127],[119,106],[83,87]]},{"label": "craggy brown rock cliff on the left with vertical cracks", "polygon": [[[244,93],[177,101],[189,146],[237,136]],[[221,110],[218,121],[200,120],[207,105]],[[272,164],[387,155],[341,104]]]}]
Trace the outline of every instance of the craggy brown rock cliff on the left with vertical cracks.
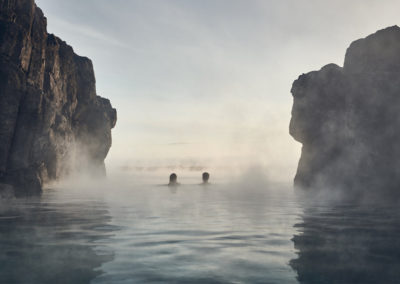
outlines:
[{"label": "craggy brown rock cliff on the left with vertical cracks", "polygon": [[90,59],[47,34],[34,0],[0,0],[0,189],[38,193],[89,165],[104,173],[115,123]]}]

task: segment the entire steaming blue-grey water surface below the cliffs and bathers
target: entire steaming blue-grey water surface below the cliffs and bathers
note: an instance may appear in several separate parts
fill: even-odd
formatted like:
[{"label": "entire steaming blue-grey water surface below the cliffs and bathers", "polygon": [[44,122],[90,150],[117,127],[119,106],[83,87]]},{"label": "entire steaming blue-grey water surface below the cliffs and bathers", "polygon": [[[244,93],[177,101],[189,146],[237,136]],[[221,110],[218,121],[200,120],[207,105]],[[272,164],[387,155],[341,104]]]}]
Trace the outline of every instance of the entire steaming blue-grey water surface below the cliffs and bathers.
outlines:
[{"label": "entire steaming blue-grey water surface below the cliffs and bathers", "polygon": [[0,208],[0,283],[400,283],[399,210],[280,185],[58,188]]}]

